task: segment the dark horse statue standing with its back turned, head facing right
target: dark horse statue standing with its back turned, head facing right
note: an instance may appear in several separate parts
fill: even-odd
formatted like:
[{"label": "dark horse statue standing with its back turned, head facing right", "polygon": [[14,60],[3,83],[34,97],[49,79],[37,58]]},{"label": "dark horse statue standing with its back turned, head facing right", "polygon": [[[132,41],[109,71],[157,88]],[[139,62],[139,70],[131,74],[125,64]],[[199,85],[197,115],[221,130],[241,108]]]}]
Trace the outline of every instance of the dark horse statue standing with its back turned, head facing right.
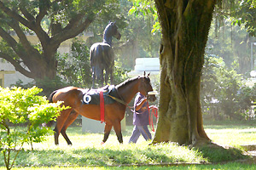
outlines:
[{"label": "dark horse statue standing with its back turned, head facing right", "polygon": [[103,33],[103,42],[96,42],[90,47],[90,66],[92,68],[92,88],[95,80],[100,80],[103,86],[103,71],[105,70],[105,83],[108,83],[110,75],[111,84],[113,84],[113,65],[114,55],[112,49],[112,37],[118,40],[121,35],[115,22],[109,22]]}]

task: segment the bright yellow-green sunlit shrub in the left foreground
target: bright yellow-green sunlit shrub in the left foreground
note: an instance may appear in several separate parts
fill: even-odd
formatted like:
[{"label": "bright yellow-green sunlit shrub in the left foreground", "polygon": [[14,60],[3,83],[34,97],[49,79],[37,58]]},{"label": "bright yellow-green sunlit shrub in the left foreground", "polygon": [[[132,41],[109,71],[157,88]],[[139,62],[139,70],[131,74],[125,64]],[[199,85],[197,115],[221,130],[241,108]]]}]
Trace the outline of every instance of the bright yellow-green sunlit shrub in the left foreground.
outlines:
[{"label": "bright yellow-green sunlit shrub in the left foreground", "polygon": [[[38,95],[41,91],[36,87],[0,88],[0,150],[7,169],[13,167],[23,144],[42,142],[45,135],[52,133],[49,127],[40,125],[54,121],[66,109],[60,107],[61,102],[49,104],[46,97]],[[20,128],[20,125],[27,127]],[[15,157],[11,162],[12,153]]]}]

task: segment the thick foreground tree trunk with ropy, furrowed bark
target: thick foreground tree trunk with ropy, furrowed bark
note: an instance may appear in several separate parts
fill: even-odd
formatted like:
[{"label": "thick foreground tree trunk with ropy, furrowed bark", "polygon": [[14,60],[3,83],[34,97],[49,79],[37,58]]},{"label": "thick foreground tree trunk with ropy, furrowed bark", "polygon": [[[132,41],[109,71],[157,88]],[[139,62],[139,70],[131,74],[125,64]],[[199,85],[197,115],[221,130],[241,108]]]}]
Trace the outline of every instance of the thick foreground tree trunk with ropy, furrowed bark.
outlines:
[{"label": "thick foreground tree trunk with ropy, furrowed bark", "polygon": [[214,0],[155,0],[160,47],[159,122],[153,143],[198,144],[210,139],[202,125],[201,69]]}]

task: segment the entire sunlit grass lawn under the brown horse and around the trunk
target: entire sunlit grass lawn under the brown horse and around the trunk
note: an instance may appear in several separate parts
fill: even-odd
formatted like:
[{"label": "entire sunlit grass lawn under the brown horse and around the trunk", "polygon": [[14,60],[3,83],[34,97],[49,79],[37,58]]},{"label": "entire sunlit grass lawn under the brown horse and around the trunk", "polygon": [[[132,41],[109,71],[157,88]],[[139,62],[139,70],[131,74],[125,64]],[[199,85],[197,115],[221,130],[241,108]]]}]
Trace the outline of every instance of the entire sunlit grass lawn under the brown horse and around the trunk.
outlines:
[{"label": "entire sunlit grass lawn under the brown horse and around the trunk", "polygon": [[[240,144],[254,144],[256,141],[256,128],[253,127],[253,123],[207,123],[205,129],[209,138],[216,144],[240,148]],[[73,146],[68,146],[62,136],[60,145],[55,146],[53,136],[49,136],[44,143],[33,144],[34,150],[26,145],[25,150],[20,151],[13,169],[256,169],[254,165],[239,162],[197,165],[202,162],[217,163],[245,159],[247,157],[241,155],[242,150],[190,150],[187,146],[171,143],[152,146],[148,145],[149,142],[144,141],[143,137],[140,137],[137,144],[127,144],[131,130],[132,127],[127,127],[123,133],[124,144],[119,144],[112,132],[106,144],[102,145],[102,133],[82,133],[81,127],[69,127],[67,135]],[[1,155],[0,170],[5,169],[2,160]],[[195,165],[152,166],[177,162]],[[148,166],[141,167],[142,165]]]}]

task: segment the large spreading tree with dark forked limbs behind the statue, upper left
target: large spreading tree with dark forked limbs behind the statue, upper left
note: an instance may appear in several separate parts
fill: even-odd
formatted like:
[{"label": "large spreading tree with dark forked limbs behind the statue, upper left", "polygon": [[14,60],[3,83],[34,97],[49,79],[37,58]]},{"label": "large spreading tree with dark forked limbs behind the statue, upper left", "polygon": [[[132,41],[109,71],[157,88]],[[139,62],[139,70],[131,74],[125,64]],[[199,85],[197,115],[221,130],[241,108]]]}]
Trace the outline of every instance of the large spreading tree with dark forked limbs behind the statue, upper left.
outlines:
[{"label": "large spreading tree with dark forked limbs behind the statue, upper left", "polygon": [[[54,78],[61,42],[78,36],[109,6],[106,0],[2,0],[0,58],[26,77]],[[39,43],[32,44],[27,35],[38,37]]]}]

